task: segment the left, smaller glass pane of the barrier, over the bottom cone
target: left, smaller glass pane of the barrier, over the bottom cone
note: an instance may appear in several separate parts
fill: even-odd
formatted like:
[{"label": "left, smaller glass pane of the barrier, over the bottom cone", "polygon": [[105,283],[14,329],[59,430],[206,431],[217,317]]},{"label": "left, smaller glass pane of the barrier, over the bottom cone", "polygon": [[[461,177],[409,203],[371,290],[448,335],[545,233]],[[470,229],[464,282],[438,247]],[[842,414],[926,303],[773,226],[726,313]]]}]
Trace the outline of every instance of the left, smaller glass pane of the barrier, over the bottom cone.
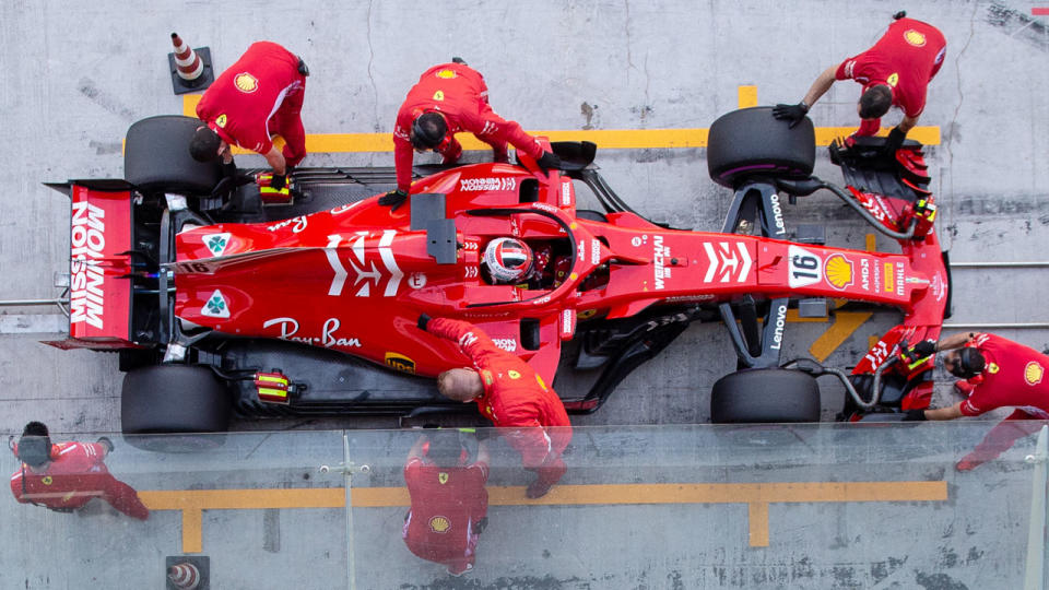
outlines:
[{"label": "left, smaller glass pane of the barrier, over the bottom cone", "polygon": [[[307,573],[325,580],[323,588],[346,588],[344,477],[338,470],[318,471],[342,462],[341,432],[109,436],[115,450],[105,464],[138,491],[149,519],[125,516],[103,499],[60,514],[19,504],[9,494],[0,503],[0,530],[8,539],[0,550],[0,588],[164,588],[173,557],[198,566],[213,589],[306,588]],[[64,440],[54,435],[55,442]],[[135,444],[198,450],[155,452]],[[10,452],[0,453],[3,473],[21,475],[20,464]],[[27,481],[31,494],[42,489],[34,496],[40,502],[47,489],[70,485],[69,475],[45,484],[30,474]],[[97,476],[72,485],[119,487]]]}]

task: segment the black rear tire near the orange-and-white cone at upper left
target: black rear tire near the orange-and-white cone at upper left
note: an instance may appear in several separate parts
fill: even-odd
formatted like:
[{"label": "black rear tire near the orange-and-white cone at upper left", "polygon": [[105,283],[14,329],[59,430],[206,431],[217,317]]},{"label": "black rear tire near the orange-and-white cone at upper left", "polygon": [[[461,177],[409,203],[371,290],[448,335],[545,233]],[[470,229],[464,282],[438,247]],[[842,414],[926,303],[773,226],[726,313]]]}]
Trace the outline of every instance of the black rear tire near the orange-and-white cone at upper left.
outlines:
[{"label": "black rear tire near the orange-and-white cone at upper left", "polygon": [[123,177],[143,192],[204,196],[222,179],[222,164],[197,162],[189,142],[200,119],[161,115],[128,128],[123,145]]}]

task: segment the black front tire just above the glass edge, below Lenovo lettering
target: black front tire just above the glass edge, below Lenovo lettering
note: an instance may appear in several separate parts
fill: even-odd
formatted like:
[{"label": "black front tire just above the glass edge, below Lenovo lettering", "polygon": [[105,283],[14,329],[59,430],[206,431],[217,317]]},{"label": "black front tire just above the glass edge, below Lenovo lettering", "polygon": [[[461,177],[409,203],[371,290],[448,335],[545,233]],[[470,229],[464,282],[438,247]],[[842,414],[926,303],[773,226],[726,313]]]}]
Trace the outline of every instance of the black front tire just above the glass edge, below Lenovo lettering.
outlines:
[{"label": "black front tire just above the glass edge, below Lenovo lettering", "polygon": [[714,384],[710,420],[715,424],[820,422],[820,386],[815,377],[800,370],[739,370]]}]

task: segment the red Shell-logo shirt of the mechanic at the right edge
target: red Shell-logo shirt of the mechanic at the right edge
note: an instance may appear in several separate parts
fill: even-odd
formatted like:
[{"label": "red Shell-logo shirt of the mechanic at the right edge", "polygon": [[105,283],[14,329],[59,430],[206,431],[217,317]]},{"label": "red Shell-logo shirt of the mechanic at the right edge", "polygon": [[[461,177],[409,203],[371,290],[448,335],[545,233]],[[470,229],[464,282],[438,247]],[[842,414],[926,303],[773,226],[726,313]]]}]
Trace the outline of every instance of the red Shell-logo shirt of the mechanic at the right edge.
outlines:
[{"label": "red Shell-logo shirt of the mechanic at the right edge", "polygon": [[1009,420],[1049,420],[1049,356],[994,334],[979,333],[967,345],[980,351],[987,368],[969,380],[976,387],[962,402],[963,414],[1015,406]]}]

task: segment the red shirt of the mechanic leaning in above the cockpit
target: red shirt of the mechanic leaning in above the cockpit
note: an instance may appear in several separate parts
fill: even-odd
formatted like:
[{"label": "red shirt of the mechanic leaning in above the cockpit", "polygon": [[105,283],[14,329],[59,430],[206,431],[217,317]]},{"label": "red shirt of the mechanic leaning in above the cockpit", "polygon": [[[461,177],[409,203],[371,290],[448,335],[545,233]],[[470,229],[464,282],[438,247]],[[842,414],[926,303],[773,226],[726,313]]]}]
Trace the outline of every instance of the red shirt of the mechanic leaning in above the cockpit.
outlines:
[{"label": "red shirt of the mechanic leaning in above the cockpit", "polygon": [[468,131],[487,143],[496,158],[506,160],[509,142],[531,157],[543,155],[542,146],[515,121],[499,117],[488,106],[488,87],[476,70],[463,63],[441,63],[426,70],[412,86],[397,113],[393,127],[393,157],[397,165],[397,188],[412,185],[414,150],[410,141],[412,121],[426,111],[445,116],[448,133]]}]

